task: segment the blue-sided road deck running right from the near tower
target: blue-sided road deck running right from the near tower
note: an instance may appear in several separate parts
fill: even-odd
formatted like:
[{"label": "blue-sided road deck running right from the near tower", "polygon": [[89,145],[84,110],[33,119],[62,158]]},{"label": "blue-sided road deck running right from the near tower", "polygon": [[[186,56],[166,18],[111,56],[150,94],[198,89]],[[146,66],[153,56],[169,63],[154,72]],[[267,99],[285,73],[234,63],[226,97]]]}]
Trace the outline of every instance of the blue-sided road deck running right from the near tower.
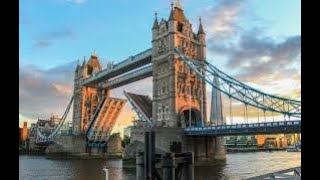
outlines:
[{"label": "blue-sided road deck running right from the near tower", "polygon": [[189,136],[232,136],[254,134],[300,133],[301,121],[263,122],[252,124],[219,125],[207,127],[188,127],[184,129]]}]

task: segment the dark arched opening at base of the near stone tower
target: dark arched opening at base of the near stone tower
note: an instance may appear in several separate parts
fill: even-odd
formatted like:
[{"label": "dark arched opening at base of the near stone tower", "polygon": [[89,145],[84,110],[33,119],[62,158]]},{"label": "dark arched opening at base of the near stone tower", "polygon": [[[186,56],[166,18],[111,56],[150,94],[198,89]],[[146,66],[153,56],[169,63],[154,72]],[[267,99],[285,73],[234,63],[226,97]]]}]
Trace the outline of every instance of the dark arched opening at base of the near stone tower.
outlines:
[{"label": "dark arched opening at base of the near stone tower", "polygon": [[200,127],[201,126],[201,116],[200,111],[197,109],[185,109],[179,114],[178,127],[189,127],[191,121],[191,126]]}]

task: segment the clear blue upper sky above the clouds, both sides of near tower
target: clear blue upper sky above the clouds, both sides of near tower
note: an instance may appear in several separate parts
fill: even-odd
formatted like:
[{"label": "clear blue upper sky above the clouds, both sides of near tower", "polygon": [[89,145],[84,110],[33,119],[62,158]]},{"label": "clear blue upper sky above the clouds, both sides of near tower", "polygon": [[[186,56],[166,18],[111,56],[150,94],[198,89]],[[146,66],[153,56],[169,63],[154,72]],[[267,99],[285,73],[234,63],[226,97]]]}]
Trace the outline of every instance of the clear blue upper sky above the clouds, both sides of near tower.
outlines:
[{"label": "clear blue upper sky above the clouds, both sides of near tower", "polygon": [[[46,69],[82,60],[93,50],[101,57],[120,61],[147,49],[151,47],[154,11],[167,19],[170,10],[169,0],[19,2],[20,65],[35,64]],[[203,9],[217,4],[212,0],[181,3],[194,28],[197,28],[198,17],[205,17]],[[265,35],[273,38],[297,35],[301,31],[300,6],[297,0],[248,1],[240,25],[246,29],[268,27]]]}]

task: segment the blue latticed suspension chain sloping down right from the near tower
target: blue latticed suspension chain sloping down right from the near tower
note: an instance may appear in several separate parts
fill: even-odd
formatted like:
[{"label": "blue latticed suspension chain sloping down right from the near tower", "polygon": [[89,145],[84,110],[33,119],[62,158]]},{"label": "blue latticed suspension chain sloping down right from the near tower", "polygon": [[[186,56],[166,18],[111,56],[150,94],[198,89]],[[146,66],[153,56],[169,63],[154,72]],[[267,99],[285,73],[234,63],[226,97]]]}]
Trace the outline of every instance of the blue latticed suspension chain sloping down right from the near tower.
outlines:
[{"label": "blue latticed suspension chain sloping down right from the near tower", "polygon": [[[175,52],[198,77],[204,79],[212,87],[223,92],[228,97],[264,111],[277,112],[288,117],[301,118],[301,101],[266,94],[228,76],[208,61],[190,59],[178,49],[175,49]],[[220,82],[219,86],[213,83],[212,79],[215,77],[218,78]]]}]

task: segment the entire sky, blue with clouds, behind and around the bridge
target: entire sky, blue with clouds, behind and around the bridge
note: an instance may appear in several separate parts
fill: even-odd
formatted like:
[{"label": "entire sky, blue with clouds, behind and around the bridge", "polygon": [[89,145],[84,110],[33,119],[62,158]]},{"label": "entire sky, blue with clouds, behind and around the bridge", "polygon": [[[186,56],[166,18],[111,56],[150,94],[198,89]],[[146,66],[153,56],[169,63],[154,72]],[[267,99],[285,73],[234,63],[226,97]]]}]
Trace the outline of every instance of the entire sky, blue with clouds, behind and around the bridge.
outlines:
[{"label": "entire sky, blue with clouds, behind and around the bridge", "polygon": [[[210,63],[266,93],[301,99],[299,0],[180,2],[195,32],[202,18]],[[77,63],[95,51],[104,68],[108,61],[120,62],[150,48],[154,13],[167,20],[171,9],[170,0],[19,0],[19,4],[19,126],[38,117],[62,116],[72,96]],[[147,78],[114,89],[112,96],[125,98],[123,90],[130,89],[152,97],[151,82]],[[209,102],[210,92],[208,88]],[[240,116],[241,106],[235,111]],[[122,132],[135,117],[128,103],[114,131]],[[71,118],[72,109],[67,120]]]}]

